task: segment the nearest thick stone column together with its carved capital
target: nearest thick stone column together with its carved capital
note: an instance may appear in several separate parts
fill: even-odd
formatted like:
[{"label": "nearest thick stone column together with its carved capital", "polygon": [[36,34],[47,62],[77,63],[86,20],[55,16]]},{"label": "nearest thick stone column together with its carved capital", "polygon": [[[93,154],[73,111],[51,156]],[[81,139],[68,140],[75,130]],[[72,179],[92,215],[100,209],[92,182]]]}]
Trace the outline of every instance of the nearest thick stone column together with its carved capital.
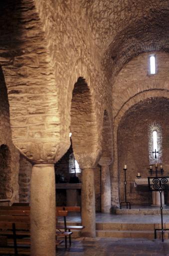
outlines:
[{"label": "nearest thick stone column together with its carved capital", "polygon": [[56,255],[56,202],[54,162],[69,147],[69,141],[17,143],[32,162],[30,186],[31,256]]}]

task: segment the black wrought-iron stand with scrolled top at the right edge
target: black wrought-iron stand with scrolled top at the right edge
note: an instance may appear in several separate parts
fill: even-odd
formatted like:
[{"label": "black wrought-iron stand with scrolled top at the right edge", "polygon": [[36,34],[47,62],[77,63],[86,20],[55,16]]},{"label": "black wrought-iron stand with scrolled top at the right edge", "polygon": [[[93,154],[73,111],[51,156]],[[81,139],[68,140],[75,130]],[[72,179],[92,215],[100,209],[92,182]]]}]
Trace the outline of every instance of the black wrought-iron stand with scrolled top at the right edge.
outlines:
[{"label": "black wrought-iron stand with scrolled top at the right edge", "polygon": [[157,231],[162,232],[162,242],[164,241],[164,231],[169,230],[164,228],[163,225],[163,204],[162,204],[162,192],[168,189],[169,177],[148,177],[149,189],[151,191],[160,192],[160,210],[161,210],[161,228],[155,228],[155,239],[157,238]]}]

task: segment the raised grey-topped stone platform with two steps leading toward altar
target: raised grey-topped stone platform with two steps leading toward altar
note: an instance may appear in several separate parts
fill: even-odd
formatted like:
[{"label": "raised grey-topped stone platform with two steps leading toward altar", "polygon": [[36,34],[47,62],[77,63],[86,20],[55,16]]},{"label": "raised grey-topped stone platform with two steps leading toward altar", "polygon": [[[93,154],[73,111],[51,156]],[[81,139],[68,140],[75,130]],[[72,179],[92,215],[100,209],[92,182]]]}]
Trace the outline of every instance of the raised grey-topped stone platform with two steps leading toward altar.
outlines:
[{"label": "raised grey-topped stone platform with two steps leading toward altar", "polygon": [[[164,215],[164,228],[169,228],[169,215]],[[68,215],[67,224],[81,223],[80,214]],[[147,238],[154,239],[154,229],[161,228],[160,214],[109,214],[96,213],[96,236],[114,238]],[[72,237],[81,236],[81,232],[73,230]],[[158,232],[157,238],[161,238]],[[165,232],[169,239],[169,231]]]}]

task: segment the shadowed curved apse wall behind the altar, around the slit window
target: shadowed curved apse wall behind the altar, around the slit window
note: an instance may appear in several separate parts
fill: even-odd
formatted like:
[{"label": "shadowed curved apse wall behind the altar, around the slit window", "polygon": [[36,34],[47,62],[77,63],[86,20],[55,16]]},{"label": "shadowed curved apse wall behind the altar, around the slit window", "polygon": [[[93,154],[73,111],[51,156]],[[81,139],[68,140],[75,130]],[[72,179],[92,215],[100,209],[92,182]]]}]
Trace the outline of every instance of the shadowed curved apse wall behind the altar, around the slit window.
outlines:
[{"label": "shadowed curved apse wall behind the altar, around the slit window", "polygon": [[[118,128],[118,162],[120,200],[124,199],[124,164],[127,164],[127,198],[136,204],[152,203],[152,192],[147,186],[135,187],[135,178],[149,174],[149,127],[153,123],[161,126],[162,161],[165,175],[169,175],[169,99],[149,98],[130,108]],[[166,200],[169,201],[166,195]]]}]

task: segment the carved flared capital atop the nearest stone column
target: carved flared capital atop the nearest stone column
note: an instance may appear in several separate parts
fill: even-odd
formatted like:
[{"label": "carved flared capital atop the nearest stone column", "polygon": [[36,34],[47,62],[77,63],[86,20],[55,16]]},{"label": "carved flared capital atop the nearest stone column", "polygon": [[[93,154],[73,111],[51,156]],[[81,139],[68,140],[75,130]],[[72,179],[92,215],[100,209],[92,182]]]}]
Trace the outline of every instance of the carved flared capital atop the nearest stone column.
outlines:
[{"label": "carved flared capital atop the nearest stone column", "polygon": [[16,148],[32,163],[54,163],[70,146],[70,141],[13,141]]}]

